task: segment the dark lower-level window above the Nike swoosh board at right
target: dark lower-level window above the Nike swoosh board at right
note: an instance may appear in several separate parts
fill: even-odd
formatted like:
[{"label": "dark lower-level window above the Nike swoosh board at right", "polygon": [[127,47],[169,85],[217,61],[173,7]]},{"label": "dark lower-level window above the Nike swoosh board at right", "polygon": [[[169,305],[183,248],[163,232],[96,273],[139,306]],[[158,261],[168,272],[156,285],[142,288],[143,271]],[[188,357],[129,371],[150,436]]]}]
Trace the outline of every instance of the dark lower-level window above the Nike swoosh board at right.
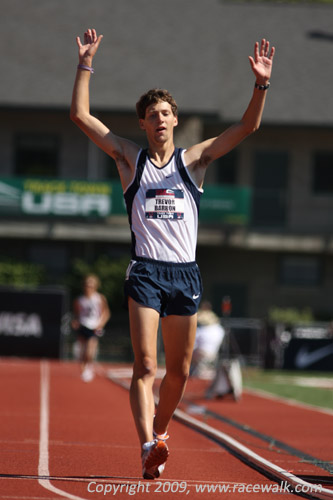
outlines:
[{"label": "dark lower-level window above the Nike swoosh board at right", "polygon": [[279,281],[284,286],[313,287],[321,281],[321,261],[309,255],[285,255],[280,260]]}]

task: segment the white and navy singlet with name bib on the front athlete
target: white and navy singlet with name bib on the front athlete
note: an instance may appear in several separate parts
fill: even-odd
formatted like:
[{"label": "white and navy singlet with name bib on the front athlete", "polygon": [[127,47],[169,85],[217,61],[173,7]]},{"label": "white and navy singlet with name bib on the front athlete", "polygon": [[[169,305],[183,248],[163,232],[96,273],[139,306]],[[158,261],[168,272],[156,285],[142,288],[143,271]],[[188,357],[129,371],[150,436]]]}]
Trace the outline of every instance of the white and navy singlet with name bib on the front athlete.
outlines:
[{"label": "white and navy singlet with name bib on the front athlete", "polygon": [[132,234],[132,258],[195,261],[202,190],[190,177],[184,149],[157,167],[148,150],[138,154],[134,179],[124,192]]}]

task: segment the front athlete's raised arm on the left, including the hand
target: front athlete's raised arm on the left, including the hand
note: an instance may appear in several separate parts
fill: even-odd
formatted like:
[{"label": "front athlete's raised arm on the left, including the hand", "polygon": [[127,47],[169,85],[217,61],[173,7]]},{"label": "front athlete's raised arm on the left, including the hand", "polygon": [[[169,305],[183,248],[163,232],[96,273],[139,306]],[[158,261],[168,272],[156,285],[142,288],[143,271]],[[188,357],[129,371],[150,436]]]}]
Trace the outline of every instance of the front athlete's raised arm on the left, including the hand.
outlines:
[{"label": "front athlete's raised arm on the left, including the hand", "polygon": [[[103,35],[97,36],[95,30],[88,29],[84,34],[84,44],[76,38],[79,47],[79,65],[92,67]],[[77,69],[70,117],[80,129],[105,153],[111,156],[118,167],[120,179],[125,189],[133,177],[139,146],[127,139],[115,135],[100,120],[90,113],[89,82],[91,71]]]}]

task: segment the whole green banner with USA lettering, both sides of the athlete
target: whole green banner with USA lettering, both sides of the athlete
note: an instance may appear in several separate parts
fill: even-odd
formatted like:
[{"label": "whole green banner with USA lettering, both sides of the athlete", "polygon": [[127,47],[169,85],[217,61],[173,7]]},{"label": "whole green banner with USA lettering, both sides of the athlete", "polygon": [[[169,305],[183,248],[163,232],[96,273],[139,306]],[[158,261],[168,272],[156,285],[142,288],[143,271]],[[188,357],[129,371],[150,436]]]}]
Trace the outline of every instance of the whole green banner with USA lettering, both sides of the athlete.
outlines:
[{"label": "whole green banner with USA lettering, both sides of the athlete", "polygon": [[[205,186],[200,221],[247,224],[250,189]],[[120,182],[46,178],[0,178],[0,214],[46,217],[126,215]]]}]

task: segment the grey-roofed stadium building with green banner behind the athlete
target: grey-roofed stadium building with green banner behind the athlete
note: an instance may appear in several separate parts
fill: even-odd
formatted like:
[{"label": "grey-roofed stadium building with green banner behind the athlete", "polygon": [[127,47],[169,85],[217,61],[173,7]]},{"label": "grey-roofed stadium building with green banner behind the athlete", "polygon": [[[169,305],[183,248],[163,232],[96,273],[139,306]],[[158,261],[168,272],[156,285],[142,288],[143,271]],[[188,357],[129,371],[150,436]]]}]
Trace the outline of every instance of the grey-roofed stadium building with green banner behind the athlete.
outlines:
[{"label": "grey-roofed stadium building with green banner behind the athlete", "polygon": [[[239,120],[253,88],[248,55],[276,46],[261,128],[211,165],[197,260],[205,298],[262,318],[272,307],[333,316],[333,53],[330,5],[217,0],[5,0],[0,92],[1,256],[44,264],[129,256],[113,161],[69,119],[75,37],[95,27],[92,112],[145,145],[135,114],[152,87],[180,110],[176,145]],[[83,8],[84,5],[84,8]]]}]

